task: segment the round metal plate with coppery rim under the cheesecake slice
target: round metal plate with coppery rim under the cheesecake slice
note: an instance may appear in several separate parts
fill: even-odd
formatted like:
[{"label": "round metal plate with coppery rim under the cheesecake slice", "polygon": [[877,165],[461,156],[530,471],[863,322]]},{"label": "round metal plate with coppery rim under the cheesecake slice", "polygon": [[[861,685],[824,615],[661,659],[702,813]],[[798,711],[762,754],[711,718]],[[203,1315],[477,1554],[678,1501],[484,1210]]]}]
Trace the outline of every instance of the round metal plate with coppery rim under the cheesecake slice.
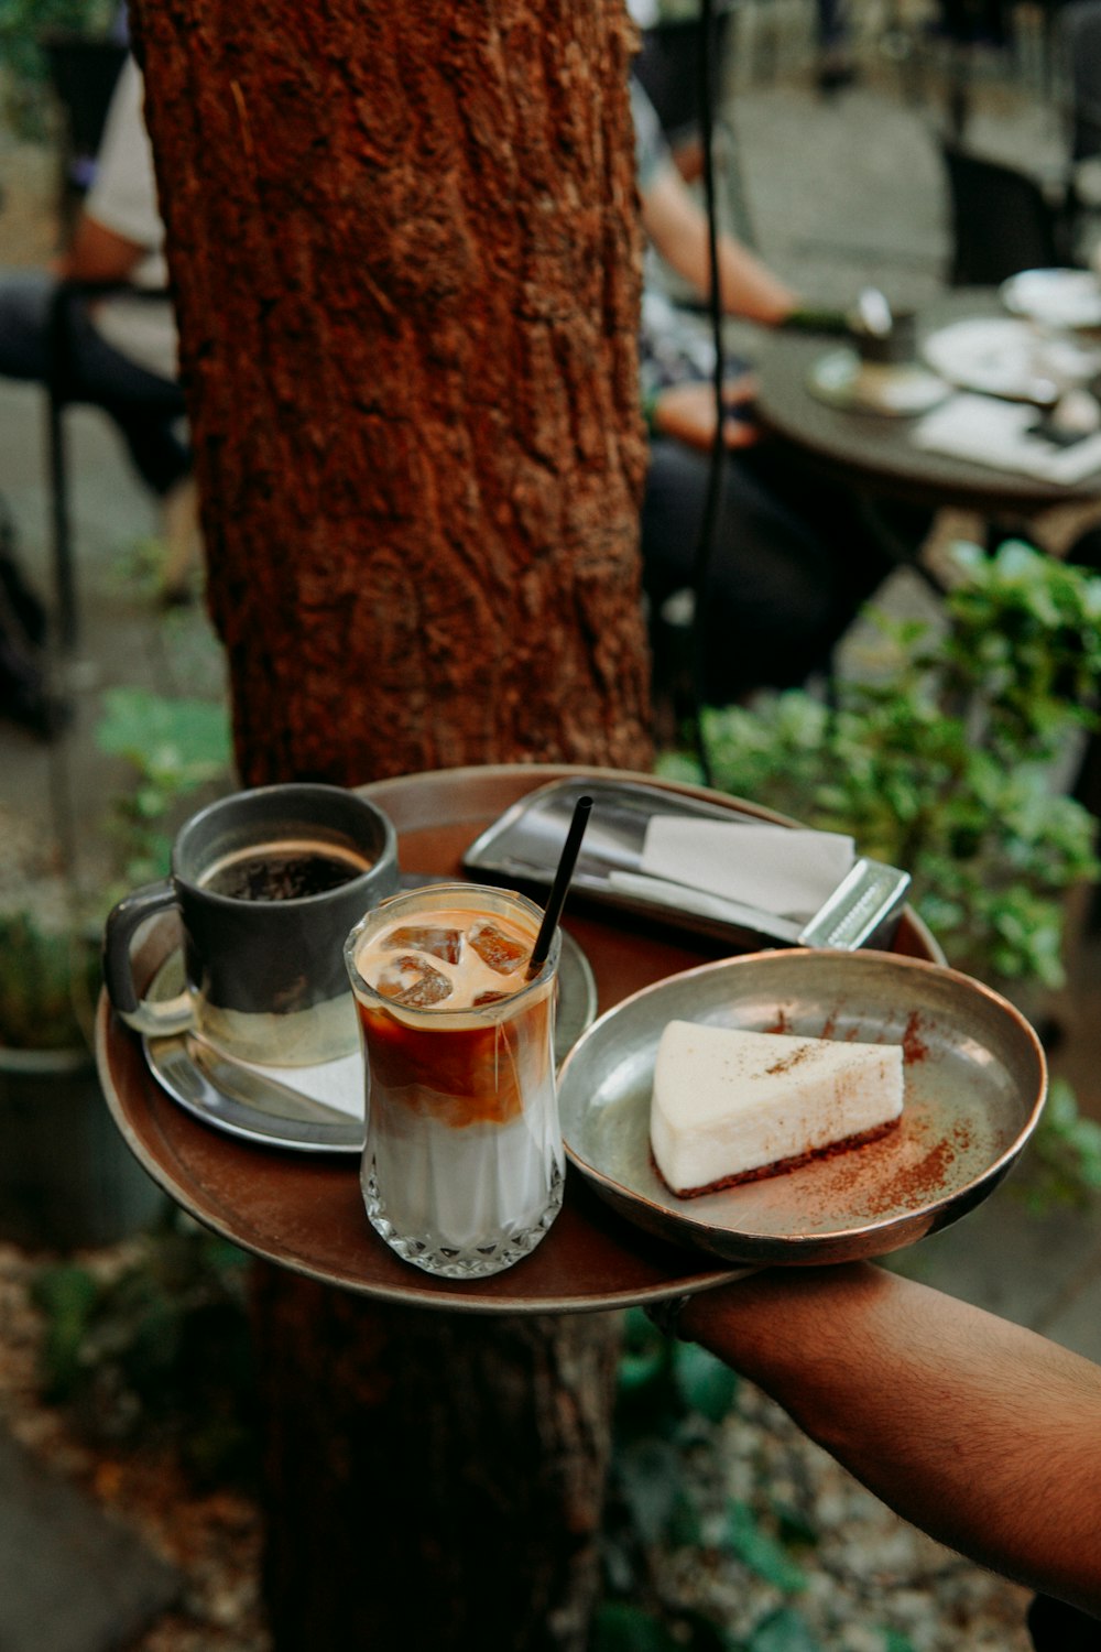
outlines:
[{"label": "round metal plate with coppery rim under the cheesecake slice", "polygon": [[[675,1198],[649,1146],[667,1021],[901,1044],[896,1130],[834,1158],[695,1199]],[[1047,1090],[1037,1034],[956,970],[883,952],[766,952],[647,986],[601,1016],[560,1080],[571,1161],[619,1214],[728,1262],[848,1262],[903,1249],[994,1191]]]}]

